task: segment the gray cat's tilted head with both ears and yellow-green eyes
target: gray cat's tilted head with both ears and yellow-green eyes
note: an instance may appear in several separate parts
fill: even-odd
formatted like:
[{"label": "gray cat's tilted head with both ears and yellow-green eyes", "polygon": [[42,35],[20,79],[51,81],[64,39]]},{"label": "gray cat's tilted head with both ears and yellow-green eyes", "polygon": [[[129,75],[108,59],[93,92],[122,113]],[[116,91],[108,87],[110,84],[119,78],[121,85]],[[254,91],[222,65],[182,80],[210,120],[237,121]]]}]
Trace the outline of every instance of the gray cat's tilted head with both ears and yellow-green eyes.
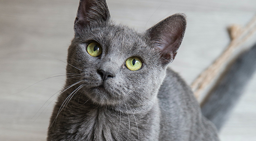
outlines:
[{"label": "gray cat's tilted head with both ears and yellow-green eyes", "polygon": [[186,28],[184,14],[174,14],[145,32],[115,25],[105,0],[80,0],[68,50],[67,79],[83,84],[83,93],[100,105],[140,105],[156,98]]}]

